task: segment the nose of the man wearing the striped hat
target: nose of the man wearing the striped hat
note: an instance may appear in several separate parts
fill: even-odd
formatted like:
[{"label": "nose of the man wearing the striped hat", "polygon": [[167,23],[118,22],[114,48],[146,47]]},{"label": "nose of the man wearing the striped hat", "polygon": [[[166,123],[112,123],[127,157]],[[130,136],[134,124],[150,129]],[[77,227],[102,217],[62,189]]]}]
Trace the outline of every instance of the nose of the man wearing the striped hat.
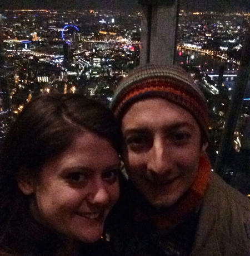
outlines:
[{"label": "nose of the man wearing the striped hat", "polygon": [[166,143],[166,139],[154,139],[147,161],[147,169],[154,175],[166,175],[173,169],[171,146]]}]

